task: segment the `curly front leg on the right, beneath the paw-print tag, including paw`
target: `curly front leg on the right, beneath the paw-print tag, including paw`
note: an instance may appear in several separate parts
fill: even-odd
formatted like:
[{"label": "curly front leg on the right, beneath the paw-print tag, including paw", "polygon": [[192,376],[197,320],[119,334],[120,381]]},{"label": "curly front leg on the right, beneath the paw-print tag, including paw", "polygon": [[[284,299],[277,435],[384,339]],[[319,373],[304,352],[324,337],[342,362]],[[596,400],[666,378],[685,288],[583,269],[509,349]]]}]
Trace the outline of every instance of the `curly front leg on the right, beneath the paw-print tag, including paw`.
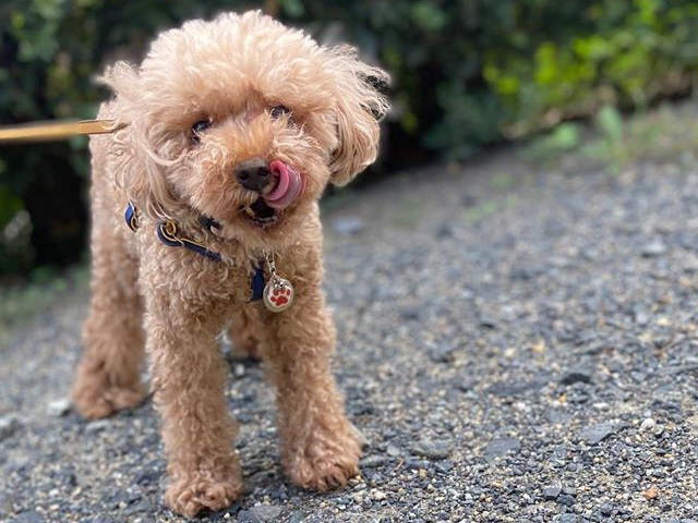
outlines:
[{"label": "curly front leg on the right, beneath the paw-print tag, including paw", "polygon": [[269,313],[262,353],[277,388],[286,473],[301,487],[327,490],[358,474],[361,446],[332,374],[335,329],[316,270],[294,279],[290,308]]}]

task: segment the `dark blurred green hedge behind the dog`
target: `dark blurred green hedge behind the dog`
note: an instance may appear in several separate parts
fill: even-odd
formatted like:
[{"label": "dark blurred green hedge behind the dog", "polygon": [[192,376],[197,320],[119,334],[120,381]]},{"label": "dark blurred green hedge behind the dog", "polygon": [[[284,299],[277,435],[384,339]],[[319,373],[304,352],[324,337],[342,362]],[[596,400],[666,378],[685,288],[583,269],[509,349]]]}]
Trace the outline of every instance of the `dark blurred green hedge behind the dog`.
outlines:
[{"label": "dark blurred green hedge behind the dog", "polygon": [[[698,73],[694,0],[3,0],[0,124],[94,118],[106,64],[141,60],[186,19],[248,8],[353,42],[393,75],[382,161],[364,184],[508,141],[574,147],[582,127],[569,122],[597,122],[612,148],[619,111],[686,97]],[[0,147],[1,283],[86,259],[86,146]]]}]

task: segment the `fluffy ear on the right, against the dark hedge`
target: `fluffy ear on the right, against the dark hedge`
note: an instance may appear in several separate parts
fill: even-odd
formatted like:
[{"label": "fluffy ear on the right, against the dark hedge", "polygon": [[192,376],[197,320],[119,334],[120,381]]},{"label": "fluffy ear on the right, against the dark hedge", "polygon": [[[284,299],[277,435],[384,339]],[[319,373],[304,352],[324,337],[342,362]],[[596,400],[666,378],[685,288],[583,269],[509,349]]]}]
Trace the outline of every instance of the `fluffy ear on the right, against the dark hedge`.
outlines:
[{"label": "fluffy ear on the right, against the dark hedge", "polygon": [[346,185],[375,160],[381,129],[388,111],[383,92],[388,74],[358,58],[349,46],[328,49],[330,70],[337,77],[336,121],[338,145],[329,163],[330,181]]}]

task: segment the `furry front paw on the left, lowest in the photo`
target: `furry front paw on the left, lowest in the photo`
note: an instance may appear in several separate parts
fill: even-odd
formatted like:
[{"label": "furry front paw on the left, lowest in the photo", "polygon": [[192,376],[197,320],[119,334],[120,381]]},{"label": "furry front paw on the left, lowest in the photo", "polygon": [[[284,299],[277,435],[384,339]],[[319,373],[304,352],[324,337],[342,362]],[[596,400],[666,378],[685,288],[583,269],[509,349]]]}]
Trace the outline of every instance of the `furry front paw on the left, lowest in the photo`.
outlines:
[{"label": "furry front paw on the left, lowest in the photo", "polygon": [[220,510],[242,495],[239,473],[217,475],[197,472],[172,482],[165,492],[165,501],[174,512],[193,518],[202,510]]}]

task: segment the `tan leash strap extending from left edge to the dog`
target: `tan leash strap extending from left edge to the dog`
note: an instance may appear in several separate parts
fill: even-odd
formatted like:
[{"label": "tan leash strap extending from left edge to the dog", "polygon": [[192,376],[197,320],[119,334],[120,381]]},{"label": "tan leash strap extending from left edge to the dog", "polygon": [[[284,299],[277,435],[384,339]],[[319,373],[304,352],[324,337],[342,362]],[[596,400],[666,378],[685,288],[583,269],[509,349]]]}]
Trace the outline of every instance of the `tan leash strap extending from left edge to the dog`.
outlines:
[{"label": "tan leash strap extending from left edge to the dog", "polygon": [[124,124],[113,120],[81,120],[63,122],[33,122],[0,127],[0,144],[3,142],[48,142],[79,134],[113,133]]}]

